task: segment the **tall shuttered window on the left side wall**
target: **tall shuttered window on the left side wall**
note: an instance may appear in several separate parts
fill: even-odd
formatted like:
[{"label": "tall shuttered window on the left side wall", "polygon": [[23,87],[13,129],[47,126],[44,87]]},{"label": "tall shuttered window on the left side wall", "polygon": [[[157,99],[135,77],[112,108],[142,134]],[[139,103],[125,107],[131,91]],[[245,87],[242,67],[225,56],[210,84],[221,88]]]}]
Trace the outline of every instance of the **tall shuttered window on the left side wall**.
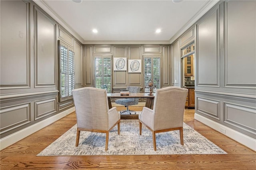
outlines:
[{"label": "tall shuttered window on the left side wall", "polygon": [[72,99],[75,85],[74,51],[60,43],[60,101]]}]

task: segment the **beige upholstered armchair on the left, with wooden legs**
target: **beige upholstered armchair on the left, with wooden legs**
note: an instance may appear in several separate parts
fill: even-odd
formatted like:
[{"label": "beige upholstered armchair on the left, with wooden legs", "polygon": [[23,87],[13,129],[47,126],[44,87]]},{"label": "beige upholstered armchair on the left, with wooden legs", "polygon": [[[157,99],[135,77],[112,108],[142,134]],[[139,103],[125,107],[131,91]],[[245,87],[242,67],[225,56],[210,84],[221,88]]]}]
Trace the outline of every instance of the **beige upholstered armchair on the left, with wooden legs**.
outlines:
[{"label": "beige upholstered armchair on the left, with wooden legs", "polygon": [[76,107],[77,133],[76,146],[79,143],[80,130],[106,133],[108,150],[109,131],[118,125],[120,134],[120,114],[116,107],[108,109],[107,92],[104,89],[84,87],[72,91]]}]

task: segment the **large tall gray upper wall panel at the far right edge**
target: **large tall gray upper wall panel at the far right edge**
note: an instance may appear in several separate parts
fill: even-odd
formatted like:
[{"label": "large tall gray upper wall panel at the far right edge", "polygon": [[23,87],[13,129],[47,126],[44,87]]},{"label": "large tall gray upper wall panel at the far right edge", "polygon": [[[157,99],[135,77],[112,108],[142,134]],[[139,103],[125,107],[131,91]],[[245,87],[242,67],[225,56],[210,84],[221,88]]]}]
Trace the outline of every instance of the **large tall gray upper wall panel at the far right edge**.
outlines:
[{"label": "large tall gray upper wall panel at the far right edge", "polygon": [[225,88],[256,89],[255,6],[256,1],[224,2]]}]

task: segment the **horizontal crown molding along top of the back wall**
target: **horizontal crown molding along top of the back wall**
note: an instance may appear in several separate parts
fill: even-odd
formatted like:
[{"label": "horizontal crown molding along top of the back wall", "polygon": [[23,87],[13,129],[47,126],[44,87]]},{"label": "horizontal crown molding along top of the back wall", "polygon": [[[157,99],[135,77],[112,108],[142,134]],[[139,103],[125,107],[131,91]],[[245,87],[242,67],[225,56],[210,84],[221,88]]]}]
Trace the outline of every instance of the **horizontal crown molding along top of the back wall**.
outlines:
[{"label": "horizontal crown molding along top of the back wall", "polygon": [[169,41],[84,41],[84,44],[170,44]]}]

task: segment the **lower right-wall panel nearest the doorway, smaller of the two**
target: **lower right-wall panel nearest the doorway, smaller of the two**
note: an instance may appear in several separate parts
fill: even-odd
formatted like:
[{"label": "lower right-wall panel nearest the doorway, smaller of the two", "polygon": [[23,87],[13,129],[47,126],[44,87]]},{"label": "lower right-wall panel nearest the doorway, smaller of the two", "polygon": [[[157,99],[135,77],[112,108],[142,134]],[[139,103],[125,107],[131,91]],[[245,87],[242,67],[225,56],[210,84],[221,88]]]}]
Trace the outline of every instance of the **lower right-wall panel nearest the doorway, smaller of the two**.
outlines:
[{"label": "lower right-wall panel nearest the doorway, smaller of the two", "polygon": [[196,111],[208,115],[214,119],[220,120],[220,101],[196,97]]}]

